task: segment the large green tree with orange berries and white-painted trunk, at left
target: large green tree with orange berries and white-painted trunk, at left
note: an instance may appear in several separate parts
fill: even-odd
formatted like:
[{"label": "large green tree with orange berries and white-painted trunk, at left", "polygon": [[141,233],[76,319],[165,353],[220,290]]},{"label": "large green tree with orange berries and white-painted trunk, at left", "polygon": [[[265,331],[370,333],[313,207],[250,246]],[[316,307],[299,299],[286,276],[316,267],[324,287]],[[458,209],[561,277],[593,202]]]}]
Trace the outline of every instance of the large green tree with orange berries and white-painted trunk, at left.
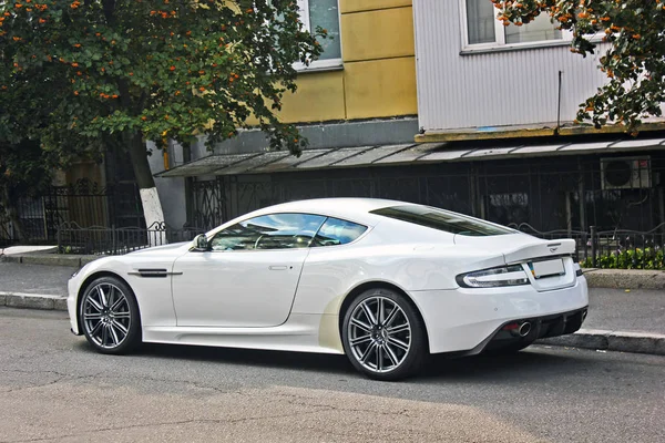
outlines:
[{"label": "large green tree with orange berries and white-painted trunk, at left", "polygon": [[320,54],[317,37],[293,0],[0,0],[0,102],[30,114],[42,95],[48,115],[19,131],[45,151],[126,150],[151,225],[163,215],[147,140],[214,144],[253,115],[272,147],[299,153],[275,112],[296,90],[293,64]]}]

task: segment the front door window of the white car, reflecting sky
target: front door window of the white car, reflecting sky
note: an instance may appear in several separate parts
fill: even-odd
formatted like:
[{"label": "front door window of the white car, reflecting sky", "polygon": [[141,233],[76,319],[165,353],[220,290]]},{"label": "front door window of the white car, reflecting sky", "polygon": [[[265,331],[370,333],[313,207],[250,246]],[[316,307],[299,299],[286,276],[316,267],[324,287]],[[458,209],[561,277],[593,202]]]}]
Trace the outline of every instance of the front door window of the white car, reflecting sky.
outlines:
[{"label": "front door window of the white car, reflecting sky", "polygon": [[270,214],[249,218],[215,234],[212,250],[306,248],[326,217],[311,214]]}]

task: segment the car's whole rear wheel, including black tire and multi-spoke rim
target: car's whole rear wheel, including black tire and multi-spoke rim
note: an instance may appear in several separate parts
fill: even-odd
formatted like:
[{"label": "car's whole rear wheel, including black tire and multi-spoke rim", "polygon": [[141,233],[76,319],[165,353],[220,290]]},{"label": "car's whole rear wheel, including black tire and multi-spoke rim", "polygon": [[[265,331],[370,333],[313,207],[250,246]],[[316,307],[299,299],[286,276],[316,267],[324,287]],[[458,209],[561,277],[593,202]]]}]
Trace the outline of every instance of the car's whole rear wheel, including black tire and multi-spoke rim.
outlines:
[{"label": "car's whole rear wheel, including black tire and multi-spoke rim", "polygon": [[405,296],[390,289],[358,295],[346,310],[341,336],[351,364],[375,380],[409,377],[427,354],[420,316]]}]

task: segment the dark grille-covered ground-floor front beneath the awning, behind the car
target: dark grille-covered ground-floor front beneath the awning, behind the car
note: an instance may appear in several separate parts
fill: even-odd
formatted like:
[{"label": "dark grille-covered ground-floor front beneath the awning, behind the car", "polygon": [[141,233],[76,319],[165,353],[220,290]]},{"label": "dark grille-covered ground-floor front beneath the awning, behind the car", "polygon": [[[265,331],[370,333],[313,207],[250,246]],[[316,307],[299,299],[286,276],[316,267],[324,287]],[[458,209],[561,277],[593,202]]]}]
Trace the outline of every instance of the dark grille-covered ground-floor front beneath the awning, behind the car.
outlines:
[{"label": "dark grille-covered ground-floor front beneath the awning, behind the car", "polygon": [[648,231],[665,223],[661,183],[665,155],[647,155],[648,187],[642,179],[635,186],[610,186],[601,158],[593,155],[219,177],[196,182],[207,194],[202,198],[197,194],[202,190],[193,193],[190,220],[213,227],[283,202],[376,197],[443,207],[502,225],[528,224],[543,233],[561,230],[567,236],[589,233],[590,226],[598,231]]}]

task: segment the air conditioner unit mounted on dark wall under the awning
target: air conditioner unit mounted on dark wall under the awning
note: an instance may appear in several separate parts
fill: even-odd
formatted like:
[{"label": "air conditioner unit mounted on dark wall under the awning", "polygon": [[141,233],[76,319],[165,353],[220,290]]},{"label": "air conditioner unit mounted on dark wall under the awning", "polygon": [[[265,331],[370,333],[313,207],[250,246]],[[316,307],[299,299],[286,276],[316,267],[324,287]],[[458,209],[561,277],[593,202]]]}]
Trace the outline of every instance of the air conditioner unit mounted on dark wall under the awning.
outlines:
[{"label": "air conditioner unit mounted on dark wall under the awning", "polygon": [[603,189],[640,189],[652,186],[651,157],[601,158]]}]

